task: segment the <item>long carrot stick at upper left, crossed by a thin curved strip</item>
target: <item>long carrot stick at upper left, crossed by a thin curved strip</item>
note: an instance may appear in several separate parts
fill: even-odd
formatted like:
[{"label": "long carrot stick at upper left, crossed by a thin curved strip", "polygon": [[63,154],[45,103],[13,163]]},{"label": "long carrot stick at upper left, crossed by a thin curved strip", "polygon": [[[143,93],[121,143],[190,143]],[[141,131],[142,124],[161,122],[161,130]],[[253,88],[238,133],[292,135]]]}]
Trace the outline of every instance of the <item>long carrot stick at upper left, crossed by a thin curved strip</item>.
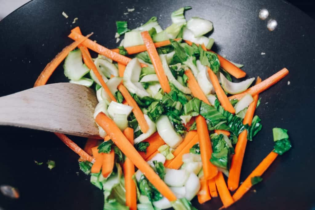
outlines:
[{"label": "long carrot stick at upper left, crossed by a thin curved strip", "polygon": [[[81,40],[83,36],[81,34],[75,32],[75,31],[72,31],[68,37],[73,39],[73,40]],[[83,46],[97,52],[98,54],[104,55],[104,56],[106,56],[106,57],[108,57],[108,58],[110,58],[110,59],[112,59],[118,63],[122,63],[124,65],[127,65],[129,63],[129,61],[131,60],[130,58],[123,56],[119,53],[115,53],[112,50],[110,50],[106,47],[103,47],[102,45],[95,43],[90,39],[83,40],[81,43]],[[141,64],[141,67],[145,67],[145,66],[147,66],[147,65]]]}]

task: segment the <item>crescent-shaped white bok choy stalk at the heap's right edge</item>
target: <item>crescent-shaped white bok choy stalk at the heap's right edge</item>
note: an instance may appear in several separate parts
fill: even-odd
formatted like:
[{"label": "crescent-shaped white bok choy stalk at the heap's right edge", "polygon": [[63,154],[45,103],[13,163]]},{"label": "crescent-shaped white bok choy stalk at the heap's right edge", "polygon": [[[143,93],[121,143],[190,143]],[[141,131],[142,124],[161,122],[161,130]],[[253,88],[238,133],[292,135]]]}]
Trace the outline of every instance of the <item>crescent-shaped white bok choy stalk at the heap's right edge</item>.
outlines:
[{"label": "crescent-shaped white bok choy stalk at the heap's right edge", "polygon": [[251,83],[255,80],[255,77],[249,78],[243,82],[230,82],[224,77],[224,75],[220,72],[220,79],[221,79],[221,84],[222,88],[228,92],[229,94],[238,94],[242,93],[245,91]]}]

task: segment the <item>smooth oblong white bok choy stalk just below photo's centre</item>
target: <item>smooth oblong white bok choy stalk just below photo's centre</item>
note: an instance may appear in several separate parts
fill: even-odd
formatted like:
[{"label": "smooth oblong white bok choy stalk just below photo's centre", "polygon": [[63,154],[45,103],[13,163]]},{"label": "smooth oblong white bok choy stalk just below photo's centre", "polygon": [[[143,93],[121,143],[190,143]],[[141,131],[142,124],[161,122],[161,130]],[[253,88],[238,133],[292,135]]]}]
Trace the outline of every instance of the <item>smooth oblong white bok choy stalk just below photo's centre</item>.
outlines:
[{"label": "smooth oblong white bok choy stalk just below photo's centre", "polygon": [[161,115],[156,121],[157,132],[167,145],[176,148],[183,138],[175,132],[168,116]]}]

